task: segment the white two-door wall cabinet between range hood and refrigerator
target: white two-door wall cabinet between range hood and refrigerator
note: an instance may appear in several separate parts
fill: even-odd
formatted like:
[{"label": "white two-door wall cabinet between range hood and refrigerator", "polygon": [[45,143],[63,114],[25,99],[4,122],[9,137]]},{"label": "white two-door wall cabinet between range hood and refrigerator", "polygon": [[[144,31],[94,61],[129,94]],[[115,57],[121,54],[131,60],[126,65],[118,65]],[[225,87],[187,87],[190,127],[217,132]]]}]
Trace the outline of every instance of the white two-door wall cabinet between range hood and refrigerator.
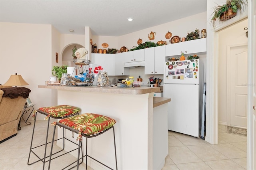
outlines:
[{"label": "white two-door wall cabinet between range hood and refrigerator", "polygon": [[145,74],[164,74],[165,46],[145,49]]}]

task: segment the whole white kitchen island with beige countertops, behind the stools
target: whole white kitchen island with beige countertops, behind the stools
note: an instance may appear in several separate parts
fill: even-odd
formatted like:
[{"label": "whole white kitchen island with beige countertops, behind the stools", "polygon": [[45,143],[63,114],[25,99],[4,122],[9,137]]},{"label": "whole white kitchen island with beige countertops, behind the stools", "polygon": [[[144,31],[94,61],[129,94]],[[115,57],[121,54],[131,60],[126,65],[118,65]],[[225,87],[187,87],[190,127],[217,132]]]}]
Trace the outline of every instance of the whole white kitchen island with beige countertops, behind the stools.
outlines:
[{"label": "whole white kitchen island with beige countertops, behind the stools", "polygon": [[[58,105],[74,105],[81,109],[81,113],[97,113],[116,120],[114,127],[118,169],[163,168],[168,154],[167,103],[170,99],[153,97],[154,92],[160,91],[159,87],[38,87],[57,89]],[[61,135],[58,128],[58,137]],[[66,136],[76,142],[77,134],[72,138],[72,133],[66,131]],[[58,146],[61,146],[61,141],[58,142]],[[73,147],[68,142],[66,146]],[[112,132],[88,140],[88,154],[114,168]],[[88,166],[93,169],[106,168],[94,160],[88,160]]]}]

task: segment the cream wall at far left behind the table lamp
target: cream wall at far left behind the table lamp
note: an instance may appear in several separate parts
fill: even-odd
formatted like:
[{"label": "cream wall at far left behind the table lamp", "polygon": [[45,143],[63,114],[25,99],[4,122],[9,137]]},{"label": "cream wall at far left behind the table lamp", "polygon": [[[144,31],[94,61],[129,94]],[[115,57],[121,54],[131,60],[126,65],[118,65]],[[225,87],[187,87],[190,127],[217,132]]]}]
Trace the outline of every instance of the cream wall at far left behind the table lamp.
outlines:
[{"label": "cream wall at far left behind the table lamp", "polygon": [[50,25],[0,22],[0,84],[11,74],[21,74],[36,108],[52,104],[51,91],[38,89],[51,75],[51,29]]}]

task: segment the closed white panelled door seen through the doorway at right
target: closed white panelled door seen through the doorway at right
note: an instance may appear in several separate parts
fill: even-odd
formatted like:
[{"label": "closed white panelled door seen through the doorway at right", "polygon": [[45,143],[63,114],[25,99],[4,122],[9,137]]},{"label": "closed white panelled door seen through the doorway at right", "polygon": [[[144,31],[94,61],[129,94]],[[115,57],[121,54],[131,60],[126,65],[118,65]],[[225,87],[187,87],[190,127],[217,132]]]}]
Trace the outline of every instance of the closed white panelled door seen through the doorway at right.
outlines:
[{"label": "closed white panelled door seen through the doorway at right", "polygon": [[228,72],[228,108],[229,126],[247,128],[247,57],[248,45],[227,47]]}]

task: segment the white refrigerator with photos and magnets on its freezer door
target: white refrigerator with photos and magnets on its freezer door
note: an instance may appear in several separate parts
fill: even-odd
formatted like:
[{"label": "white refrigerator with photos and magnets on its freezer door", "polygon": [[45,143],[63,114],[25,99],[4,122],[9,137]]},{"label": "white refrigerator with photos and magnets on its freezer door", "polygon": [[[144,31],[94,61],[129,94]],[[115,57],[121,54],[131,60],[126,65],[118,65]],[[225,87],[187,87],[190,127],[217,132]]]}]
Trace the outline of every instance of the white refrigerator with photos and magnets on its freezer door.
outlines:
[{"label": "white refrigerator with photos and magnets on its freezer door", "polygon": [[168,103],[169,130],[200,136],[203,69],[199,59],[165,63],[164,97],[171,98]]}]

